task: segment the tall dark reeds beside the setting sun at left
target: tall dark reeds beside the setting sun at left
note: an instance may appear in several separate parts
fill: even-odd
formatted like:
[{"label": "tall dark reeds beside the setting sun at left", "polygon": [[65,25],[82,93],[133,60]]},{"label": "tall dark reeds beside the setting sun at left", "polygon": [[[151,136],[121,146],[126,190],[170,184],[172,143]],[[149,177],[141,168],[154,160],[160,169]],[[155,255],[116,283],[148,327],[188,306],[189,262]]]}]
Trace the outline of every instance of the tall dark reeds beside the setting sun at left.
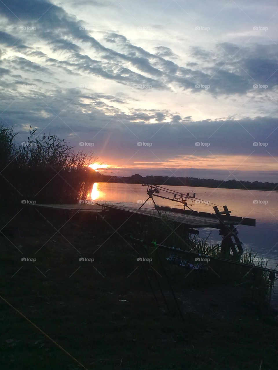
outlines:
[{"label": "tall dark reeds beside the setting sun at left", "polygon": [[97,157],[75,152],[56,135],[36,135],[29,128],[27,141],[16,144],[13,128],[0,126],[1,205],[78,203],[85,199],[96,174],[87,166]]}]

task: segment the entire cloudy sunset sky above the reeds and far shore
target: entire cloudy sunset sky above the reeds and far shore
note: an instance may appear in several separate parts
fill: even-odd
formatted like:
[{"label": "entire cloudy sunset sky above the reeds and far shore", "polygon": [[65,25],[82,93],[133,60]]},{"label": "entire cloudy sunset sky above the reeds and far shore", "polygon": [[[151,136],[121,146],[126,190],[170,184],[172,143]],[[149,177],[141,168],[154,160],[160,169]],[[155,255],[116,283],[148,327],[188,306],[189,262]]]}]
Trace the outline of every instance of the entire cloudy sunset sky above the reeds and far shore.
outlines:
[{"label": "entire cloudy sunset sky above the reeds and far shore", "polygon": [[275,0],[0,0],[0,121],[118,175],[277,182],[277,18]]}]

